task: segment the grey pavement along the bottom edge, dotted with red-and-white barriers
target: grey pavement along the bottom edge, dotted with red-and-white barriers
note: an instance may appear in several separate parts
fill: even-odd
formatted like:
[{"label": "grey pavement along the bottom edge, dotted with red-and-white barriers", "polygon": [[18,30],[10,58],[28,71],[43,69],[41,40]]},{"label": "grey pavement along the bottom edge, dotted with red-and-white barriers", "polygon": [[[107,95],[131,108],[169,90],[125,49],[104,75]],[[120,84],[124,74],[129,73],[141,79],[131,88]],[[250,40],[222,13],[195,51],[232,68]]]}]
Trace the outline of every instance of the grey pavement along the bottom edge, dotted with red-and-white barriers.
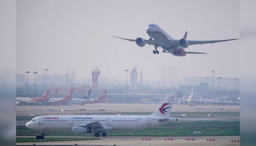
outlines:
[{"label": "grey pavement along the bottom edge, dotted with red-and-white barriers", "polygon": [[[45,138],[50,136],[45,136]],[[54,136],[56,137],[56,136]],[[61,137],[61,136],[60,136]],[[68,136],[70,137],[70,136]],[[63,137],[64,138],[64,137]],[[80,136],[76,137],[80,138]],[[150,138],[151,140],[142,140],[142,138]],[[166,141],[165,138],[173,138],[174,141]],[[195,141],[185,141],[186,138],[194,138]],[[206,139],[215,139],[216,142],[206,141]],[[16,143],[16,145],[109,145],[109,146],[240,146],[238,142],[230,142],[240,140],[240,136],[211,136],[211,137],[100,137],[99,140],[89,141],[60,141],[60,142],[28,142]],[[234,144],[234,145],[233,145]]]}]

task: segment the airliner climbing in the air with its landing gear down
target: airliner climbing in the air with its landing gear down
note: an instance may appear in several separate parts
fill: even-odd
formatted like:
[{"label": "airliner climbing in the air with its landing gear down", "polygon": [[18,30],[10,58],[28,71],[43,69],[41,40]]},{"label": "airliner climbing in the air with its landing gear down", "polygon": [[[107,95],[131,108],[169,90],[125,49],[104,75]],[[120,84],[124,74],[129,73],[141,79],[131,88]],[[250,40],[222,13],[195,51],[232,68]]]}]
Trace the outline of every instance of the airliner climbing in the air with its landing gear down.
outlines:
[{"label": "airliner climbing in the air with its landing gear down", "polygon": [[[169,34],[167,34],[162,28],[157,26],[157,24],[148,24],[146,27],[146,32],[149,35],[149,39],[137,38],[137,39],[125,39],[130,42],[136,42],[136,44],[140,47],[144,47],[146,44],[155,46],[155,50],[153,50],[154,54],[159,54],[157,50],[158,47],[162,47],[163,53],[172,53],[175,56],[186,56],[186,54],[207,54],[201,52],[186,52],[184,48],[187,48],[189,45],[197,45],[197,44],[206,44],[206,43],[218,43],[225,41],[232,41],[236,39],[223,39],[223,40],[215,40],[215,41],[190,41],[187,40],[186,31],[184,37],[181,39],[173,39]],[[115,37],[115,36],[113,36]]]}]

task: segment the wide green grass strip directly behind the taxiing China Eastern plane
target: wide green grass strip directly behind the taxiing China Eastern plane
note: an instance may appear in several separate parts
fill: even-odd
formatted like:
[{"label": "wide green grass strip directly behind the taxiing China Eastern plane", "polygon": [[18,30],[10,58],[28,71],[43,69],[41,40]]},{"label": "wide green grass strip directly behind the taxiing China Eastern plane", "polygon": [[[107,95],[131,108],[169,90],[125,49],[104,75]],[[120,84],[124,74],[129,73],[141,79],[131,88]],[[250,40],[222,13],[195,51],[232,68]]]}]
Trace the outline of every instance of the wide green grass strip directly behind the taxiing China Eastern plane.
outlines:
[{"label": "wide green grass strip directly behind the taxiing China Eastern plane", "polygon": [[[108,136],[195,136],[193,131],[201,131],[197,136],[227,136],[240,135],[240,121],[223,122],[174,122],[163,126],[149,128],[144,130],[107,131]],[[16,126],[16,135],[33,136],[40,135],[41,130],[32,130],[25,126]],[[46,130],[45,135],[76,135],[71,130]],[[86,135],[86,134],[80,134]],[[94,134],[89,134],[94,135]]]}]

